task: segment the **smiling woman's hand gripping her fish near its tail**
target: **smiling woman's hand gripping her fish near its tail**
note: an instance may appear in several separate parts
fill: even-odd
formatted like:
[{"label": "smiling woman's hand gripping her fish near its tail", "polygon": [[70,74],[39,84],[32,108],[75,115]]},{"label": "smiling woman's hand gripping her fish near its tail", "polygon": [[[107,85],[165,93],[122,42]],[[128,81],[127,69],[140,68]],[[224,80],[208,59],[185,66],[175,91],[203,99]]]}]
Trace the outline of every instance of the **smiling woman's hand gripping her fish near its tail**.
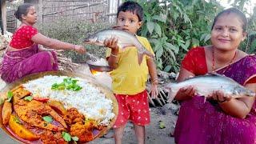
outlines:
[{"label": "smiling woman's hand gripping her fish near its tail", "polygon": [[182,87],[178,90],[178,93],[176,94],[176,97],[181,97],[185,99],[193,98],[195,94],[194,86],[188,86],[188,87]]}]

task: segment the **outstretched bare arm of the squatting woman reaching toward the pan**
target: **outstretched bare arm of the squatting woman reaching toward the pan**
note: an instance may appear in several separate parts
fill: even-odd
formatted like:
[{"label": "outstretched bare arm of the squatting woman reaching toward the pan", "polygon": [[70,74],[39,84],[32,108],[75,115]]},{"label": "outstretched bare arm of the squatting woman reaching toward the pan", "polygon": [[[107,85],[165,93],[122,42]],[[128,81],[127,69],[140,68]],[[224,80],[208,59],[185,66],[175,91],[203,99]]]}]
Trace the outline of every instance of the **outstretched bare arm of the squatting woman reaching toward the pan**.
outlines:
[{"label": "outstretched bare arm of the squatting woman reaching toward the pan", "polygon": [[86,52],[86,49],[84,46],[78,46],[78,45],[73,45],[67,42],[61,42],[57,39],[54,38],[47,38],[46,36],[38,33],[35,34],[31,40],[35,43],[41,44],[46,47],[50,47],[52,49],[57,49],[57,50],[76,50],[78,53],[84,54]]}]

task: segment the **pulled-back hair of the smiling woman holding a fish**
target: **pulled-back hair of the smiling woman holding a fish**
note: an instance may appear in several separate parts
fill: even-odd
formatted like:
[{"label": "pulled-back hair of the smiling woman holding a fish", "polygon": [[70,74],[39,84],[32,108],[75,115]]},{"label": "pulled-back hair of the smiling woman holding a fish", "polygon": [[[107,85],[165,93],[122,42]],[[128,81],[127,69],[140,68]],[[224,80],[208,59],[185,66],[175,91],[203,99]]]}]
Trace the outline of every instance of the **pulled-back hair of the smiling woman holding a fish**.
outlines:
[{"label": "pulled-back hair of the smiling woman holding a fish", "polygon": [[243,32],[246,31],[247,28],[247,18],[246,15],[242,13],[242,11],[238,10],[237,8],[229,8],[226,10],[222,10],[222,12],[218,13],[217,16],[214,18],[213,26],[211,27],[211,30],[213,30],[215,23],[217,22],[218,18],[221,17],[223,14],[237,14],[238,17],[242,20],[242,30]]}]

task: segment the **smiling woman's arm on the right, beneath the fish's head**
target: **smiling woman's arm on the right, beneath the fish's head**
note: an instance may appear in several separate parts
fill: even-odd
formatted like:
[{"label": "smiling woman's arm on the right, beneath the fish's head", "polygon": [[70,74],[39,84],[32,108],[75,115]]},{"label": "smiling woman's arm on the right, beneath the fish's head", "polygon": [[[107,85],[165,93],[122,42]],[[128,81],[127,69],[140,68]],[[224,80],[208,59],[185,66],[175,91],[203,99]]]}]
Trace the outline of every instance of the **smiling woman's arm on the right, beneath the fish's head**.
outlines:
[{"label": "smiling woman's arm on the right, beneath the fish's head", "polygon": [[[245,86],[247,89],[256,91],[256,84],[249,83]],[[231,98],[230,101],[220,102],[219,106],[226,114],[230,114],[236,118],[246,118],[246,115],[250,113],[252,106],[254,105],[255,97],[245,98]]]}]

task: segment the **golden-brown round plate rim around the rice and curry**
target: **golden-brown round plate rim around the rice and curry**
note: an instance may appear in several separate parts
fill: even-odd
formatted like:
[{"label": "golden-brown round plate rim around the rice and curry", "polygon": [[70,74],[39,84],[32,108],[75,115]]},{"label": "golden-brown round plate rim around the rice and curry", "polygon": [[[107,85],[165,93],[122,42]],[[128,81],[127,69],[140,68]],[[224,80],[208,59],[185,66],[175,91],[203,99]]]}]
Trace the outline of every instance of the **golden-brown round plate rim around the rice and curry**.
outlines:
[{"label": "golden-brown round plate rim around the rice and curry", "polygon": [[[0,91],[0,98],[6,98],[6,93],[9,90],[13,90],[15,87],[20,86],[23,83],[26,83],[30,80],[34,80],[37,78],[42,78],[46,75],[56,75],[56,76],[68,76],[68,77],[78,77],[78,78],[82,78],[82,79],[86,79],[87,82],[90,82],[90,84],[98,87],[99,90],[101,90],[101,92],[103,94],[106,95],[107,99],[110,99],[113,102],[113,113],[115,114],[114,118],[112,118],[112,120],[110,121],[110,124],[106,127],[104,127],[102,130],[94,130],[93,134],[94,134],[94,139],[101,137],[102,135],[106,134],[106,132],[108,130],[110,130],[110,128],[114,125],[114,122],[117,118],[118,115],[118,102],[116,100],[116,98],[114,97],[113,92],[107,88],[106,86],[102,86],[101,84],[99,84],[98,82],[96,82],[95,78],[92,78],[90,75],[86,75],[86,74],[74,74],[74,73],[68,73],[68,72],[63,72],[63,71],[48,71],[48,72],[42,72],[42,73],[38,73],[38,74],[30,74],[14,83],[10,83],[8,85],[6,85],[1,91]],[[7,134],[9,135],[11,138],[13,138],[14,140],[18,141],[18,142],[25,142],[25,143],[34,143],[34,142],[30,142],[30,141],[26,141],[23,140],[22,138],[18,138],[17,135],[15,135],[7,126],[3,125],[2,122],[2,105],[0,106],[0,128]],[[37,142],[36,142],[37,143]]]}]

